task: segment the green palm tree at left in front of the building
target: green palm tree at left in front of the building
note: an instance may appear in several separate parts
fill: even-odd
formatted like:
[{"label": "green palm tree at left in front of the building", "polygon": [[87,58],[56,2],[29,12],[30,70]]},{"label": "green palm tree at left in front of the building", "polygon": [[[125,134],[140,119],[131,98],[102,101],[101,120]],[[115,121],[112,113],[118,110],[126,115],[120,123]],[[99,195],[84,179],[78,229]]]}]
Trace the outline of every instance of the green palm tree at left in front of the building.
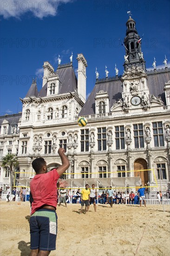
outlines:
[{"label": "green palm tree at left in front of the building", "polygon": [[[13,168],[17,167],[19,165],[19,162],[17,161],[17,157],[14,154],[7,154],[2,158],[2,167],[10,169],[10,179],[11,179],[11,185],[13,186]],[[11,188],[12,189],[12,188]]]}]

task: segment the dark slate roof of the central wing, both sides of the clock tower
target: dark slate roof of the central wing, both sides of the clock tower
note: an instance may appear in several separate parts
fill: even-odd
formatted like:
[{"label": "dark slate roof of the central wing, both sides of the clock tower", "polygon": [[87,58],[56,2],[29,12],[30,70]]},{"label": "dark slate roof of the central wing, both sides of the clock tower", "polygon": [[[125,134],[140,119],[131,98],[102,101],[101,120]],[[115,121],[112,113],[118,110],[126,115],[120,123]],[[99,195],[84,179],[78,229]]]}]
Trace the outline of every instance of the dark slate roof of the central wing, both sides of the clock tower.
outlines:
[{"label": "dark slate roof of the central wing, both sides of the clock tower", "polygon": [[[150,74],[147,75],[150,94],[153,94],[156,97],[161,96],[164,104],[166,104],[163,88],[164,84],[170,80],[170,70],[167,72],[158,71],[157,73],[151,71]],[[92,93],[85,102],[85,105],[81,109],[79,116],[95,114],[95,97],[100,90],[108,93],[110,100],[109,108],[111,109],[114,102],[122,98],[123,84],[120,79],[116,80],[115,78],[112,80],[108,78],[108,80],[105,79],[101,82],[98,80],[92,90]]]}]

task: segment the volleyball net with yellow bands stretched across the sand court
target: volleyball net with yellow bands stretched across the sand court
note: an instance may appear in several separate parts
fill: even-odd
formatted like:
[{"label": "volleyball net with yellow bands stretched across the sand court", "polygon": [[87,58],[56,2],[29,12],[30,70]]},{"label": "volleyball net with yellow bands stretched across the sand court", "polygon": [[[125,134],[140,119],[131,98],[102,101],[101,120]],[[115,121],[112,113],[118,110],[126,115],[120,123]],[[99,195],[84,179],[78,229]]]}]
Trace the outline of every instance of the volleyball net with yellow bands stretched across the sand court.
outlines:
[{"label": "volleyball net with yellow bands stretched across the sand court", "polygon": [[[115,174],[124,175],[125,177],[114,177]],[[14,186],[17,188],[20,187],[30,187],[30,181],[33,179],[35,173],[23,173],[23,172],[15,172],[14,175]],[[88,184],[89,187],[92,184],[95,185],[96,189],[109,189],[111,186],[112,189],[124,191],[126,189],[137,190],[141,184],[145,188],[157,188],[157,179],[154,172],[154,169],[144,169],[144,170],[128,170],[128,171],[114,171],[114,172],[93,172],[93,173],[64,173],[63,174],[66,179],[65,181],[68,183],[67,189],[84,189],[85,184]],[[78,176],[87,176],[76,178]],[[112,177],[103,178],[100,175],[110,175]],[[71,178],[67,178],[71,176]],[[89,177],[93,176],[93,178]],[[116,175],[115,175],[116,176]],[[150,186],[148,182],[144,183],[145,177],[152,177],[154,179],[154,186]]]}]

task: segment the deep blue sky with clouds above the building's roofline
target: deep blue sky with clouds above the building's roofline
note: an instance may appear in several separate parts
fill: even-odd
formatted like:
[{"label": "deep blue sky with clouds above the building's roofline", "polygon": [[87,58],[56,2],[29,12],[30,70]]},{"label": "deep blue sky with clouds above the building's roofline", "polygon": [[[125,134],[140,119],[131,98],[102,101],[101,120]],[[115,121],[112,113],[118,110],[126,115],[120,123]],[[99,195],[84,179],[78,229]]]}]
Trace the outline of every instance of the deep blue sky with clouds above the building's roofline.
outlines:
[{"label": "deep blue sky with clouds above the building's roofline", "polygon": [[[126,21],[131,11],[142,39],[147,70],[170,67],[169,0],[1,0],[0,1],[0,115],[22,111],[33,77],[42,88],[43,63],[58,67],[70,62],[77,74],[77,54],[85,56],[86,95],[99,78],[123,74]],[[120,39],[120,40],[119,40]]]}]

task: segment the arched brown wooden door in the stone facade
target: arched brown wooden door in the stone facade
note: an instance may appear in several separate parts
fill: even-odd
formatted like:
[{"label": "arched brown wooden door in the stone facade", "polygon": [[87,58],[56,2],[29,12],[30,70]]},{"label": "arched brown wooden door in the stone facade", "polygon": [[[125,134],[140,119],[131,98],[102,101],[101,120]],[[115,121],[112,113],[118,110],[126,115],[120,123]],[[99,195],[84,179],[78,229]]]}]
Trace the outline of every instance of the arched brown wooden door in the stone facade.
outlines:
[{"label": "arched brown wooden door in the stone facade", "polygon": [[[139,158],[134,162],[134,170],[146,170],[148,168],[147,162],[142,159]],[[134,172],[135,177],[140,177],[142,184],[144,186],[144,184],[147,184],[149,179],[148,179],[148,171],[138,171],[138,172]]]}]

